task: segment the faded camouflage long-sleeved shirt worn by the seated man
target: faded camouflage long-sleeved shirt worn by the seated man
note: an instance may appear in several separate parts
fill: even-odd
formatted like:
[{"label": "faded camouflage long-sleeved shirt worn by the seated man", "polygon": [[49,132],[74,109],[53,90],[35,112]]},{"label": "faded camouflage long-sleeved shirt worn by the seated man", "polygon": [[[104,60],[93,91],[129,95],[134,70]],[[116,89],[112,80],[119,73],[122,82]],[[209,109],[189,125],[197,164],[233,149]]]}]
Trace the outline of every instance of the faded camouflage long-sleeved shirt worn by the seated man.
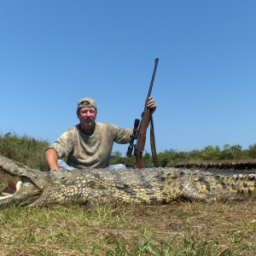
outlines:
[{"label": "faded camouflage long-sleeved shirt worn by the seated man", "polygon": [[105,168],[109,163],[113,143],[130,143],[131,135],[131,129],[112,124],[96,123],[92,134],[84,133],[80,125],[75,125],[49,148],[54,148],[59,158],[67,157],[69,166]]}]

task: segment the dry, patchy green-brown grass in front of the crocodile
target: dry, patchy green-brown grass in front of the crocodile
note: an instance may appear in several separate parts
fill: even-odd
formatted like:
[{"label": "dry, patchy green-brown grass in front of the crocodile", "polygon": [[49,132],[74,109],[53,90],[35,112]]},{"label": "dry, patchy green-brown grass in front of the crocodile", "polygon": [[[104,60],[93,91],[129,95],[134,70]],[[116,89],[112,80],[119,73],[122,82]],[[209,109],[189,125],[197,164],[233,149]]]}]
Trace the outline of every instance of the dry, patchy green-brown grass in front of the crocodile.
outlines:
[{"label": "dry, patchy green-brown grass in front of the crocodile", "polygon": [[0,210],[0,255],[256,255],[256,196]]}]

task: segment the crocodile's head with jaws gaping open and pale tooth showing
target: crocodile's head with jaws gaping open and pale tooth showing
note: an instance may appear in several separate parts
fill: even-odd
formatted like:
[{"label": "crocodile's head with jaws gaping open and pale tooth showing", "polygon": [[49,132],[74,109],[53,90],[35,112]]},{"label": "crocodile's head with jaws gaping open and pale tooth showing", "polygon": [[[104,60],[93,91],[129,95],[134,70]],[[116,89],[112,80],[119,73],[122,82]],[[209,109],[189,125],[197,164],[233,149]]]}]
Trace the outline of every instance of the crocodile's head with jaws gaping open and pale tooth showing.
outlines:
[{"label": "crocodile's head with jaws gaping open and pale tooth showing", "polygon": [[21,166],[0,156],[0,176],[7,181],[0,191],[0,208],[11,205],[29,206],[42,194],[47,173]]}]

